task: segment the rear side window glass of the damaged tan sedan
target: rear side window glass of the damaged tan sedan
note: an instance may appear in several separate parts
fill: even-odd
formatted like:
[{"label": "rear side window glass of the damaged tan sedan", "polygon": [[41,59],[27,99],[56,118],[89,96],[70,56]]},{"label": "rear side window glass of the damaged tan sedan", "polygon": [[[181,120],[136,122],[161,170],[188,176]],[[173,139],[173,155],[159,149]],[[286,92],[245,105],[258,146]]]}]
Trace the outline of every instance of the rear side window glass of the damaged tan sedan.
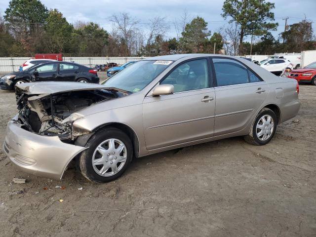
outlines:
[{"label": "rear side window glass of the damaged tan sedan", "polygon": [[232,59],[213,58],[217,86],[262,81],[241,63]]}]

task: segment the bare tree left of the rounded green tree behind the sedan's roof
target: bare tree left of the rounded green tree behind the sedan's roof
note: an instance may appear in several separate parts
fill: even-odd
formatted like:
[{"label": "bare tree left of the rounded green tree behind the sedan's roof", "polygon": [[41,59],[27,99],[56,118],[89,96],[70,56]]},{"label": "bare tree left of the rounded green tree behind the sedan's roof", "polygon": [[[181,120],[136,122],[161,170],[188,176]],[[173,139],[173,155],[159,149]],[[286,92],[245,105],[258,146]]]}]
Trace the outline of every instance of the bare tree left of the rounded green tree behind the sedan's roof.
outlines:
[{"label": "bare tree left of the rounded green tree behind the sedan's roof", "polygon": [[169,30],[169,27],[164,22],[164,19],[165,17],[157,16],[149,20],[150,24],[149,24],[149,33],[148,33],[148,38],[147,38],[147,48],[149,51],[149,56],[151,54],[152,45],[155,39],[158,36],[161,36],[162,38],[164,38],[166,32]]}]

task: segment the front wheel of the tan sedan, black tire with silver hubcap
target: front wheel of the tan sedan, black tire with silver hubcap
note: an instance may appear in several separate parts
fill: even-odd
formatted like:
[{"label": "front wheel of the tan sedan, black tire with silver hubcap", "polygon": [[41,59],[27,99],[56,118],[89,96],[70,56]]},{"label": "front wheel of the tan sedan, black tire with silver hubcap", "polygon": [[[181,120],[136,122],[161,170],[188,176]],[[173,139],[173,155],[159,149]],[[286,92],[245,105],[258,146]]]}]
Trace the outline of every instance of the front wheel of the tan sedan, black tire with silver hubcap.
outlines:
[{"label": "front wheel of the tan sedan, black tire with silver hubcap", "polygon": [[[115,149],[111,148],[111,141],[114,141]],[[124,147],[121,148],[118,156],[116,149],[119,149],[118,146],[121,144]],[[81,174],[92,182],[105,183],[117,179],[124,173],[133,157],[133,147],[129,137],[114,127],[107,127],[92,135],[86,147],[89,148],[79,157],[79,167]],[[116,172],[112,167],[117,167]]]}]

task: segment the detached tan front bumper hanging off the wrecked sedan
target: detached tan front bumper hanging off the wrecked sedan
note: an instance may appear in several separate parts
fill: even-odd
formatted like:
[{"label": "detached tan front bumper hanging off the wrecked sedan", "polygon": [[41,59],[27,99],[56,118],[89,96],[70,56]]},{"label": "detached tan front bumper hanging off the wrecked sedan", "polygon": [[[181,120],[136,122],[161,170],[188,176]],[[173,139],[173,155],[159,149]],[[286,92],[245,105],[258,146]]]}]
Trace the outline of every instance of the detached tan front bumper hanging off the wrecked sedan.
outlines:
[{"label": "detached tan front bumper hanging off the wrecked sedan", "polygon": [[3,150],[24,172],[61,179],[68,163],[86,147],[63,143],[21,128],[17,117],[8,122]]}]

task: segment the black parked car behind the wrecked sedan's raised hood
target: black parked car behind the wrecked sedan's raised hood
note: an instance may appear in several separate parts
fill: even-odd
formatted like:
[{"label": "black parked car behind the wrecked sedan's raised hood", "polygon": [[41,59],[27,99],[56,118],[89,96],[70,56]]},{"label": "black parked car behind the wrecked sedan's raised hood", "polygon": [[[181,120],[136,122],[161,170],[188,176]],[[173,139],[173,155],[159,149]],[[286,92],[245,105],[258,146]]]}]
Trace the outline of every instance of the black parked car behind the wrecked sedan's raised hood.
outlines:
[{"label": "black parked car behind the wrecked sedan's raised hood", "polygon": [[71,62],[48,62],[33,66],[23,72],[7,74],[0,79],[0,88],[14,90],[15,84],[33,81],[78,81],[99,83],[96,69]]}]

